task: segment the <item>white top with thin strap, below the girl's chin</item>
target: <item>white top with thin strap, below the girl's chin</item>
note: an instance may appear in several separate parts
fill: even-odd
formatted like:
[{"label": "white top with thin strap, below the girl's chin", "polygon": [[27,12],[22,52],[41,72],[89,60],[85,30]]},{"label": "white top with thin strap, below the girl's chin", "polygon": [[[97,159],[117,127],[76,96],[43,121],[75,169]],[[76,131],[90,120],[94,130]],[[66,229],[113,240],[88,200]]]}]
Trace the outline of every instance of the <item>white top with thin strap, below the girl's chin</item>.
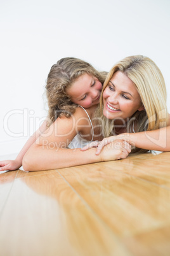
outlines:
[{"label": "white top with thin strap, below the girl's chin", "polygon": [[[80,106],[82,108],[82,106]],[[86,114],[88,115],[88,112],[82,108]],[[88,118],[89,118],[89,115],[88,115]],[[91,138],[91,141],[93,141],[93,137],[94,137],[94,129],[93,129],[93,124],[91,122],[91,119],[89,118],[89,122],[91,124],[91,127],[92,127],[92,138]],[[86,146],[88,145],[89,143],[91,143],[91,141],[88,141],[87,139],[84,139],[81,137],[81,134],[76,134],[75,137],[72,139],[72,141],[70,142],[68,148],[82,148],[83,146]]]}]

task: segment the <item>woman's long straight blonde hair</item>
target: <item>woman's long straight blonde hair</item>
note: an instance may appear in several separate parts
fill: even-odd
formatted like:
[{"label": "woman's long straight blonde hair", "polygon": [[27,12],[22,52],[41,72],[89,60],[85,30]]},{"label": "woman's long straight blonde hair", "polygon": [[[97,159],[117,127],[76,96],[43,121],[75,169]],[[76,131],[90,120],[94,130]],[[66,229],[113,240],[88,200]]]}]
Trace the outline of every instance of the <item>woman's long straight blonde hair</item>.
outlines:
[{"label": "woman's long straight blonde hair", "polygon": [[142,55],[126,57],[117,62],[108,73],[103,84],[100,99],[100,117],[103,136],[114,135],[114,122],[103,116],[103,91],[117,71],[128,76],[136,86],[144,106],[143,111],[136,111],[129,119],[127,129],[132,132],[150,131],[167,126],[166,85],[160,69],[155,62]]}]

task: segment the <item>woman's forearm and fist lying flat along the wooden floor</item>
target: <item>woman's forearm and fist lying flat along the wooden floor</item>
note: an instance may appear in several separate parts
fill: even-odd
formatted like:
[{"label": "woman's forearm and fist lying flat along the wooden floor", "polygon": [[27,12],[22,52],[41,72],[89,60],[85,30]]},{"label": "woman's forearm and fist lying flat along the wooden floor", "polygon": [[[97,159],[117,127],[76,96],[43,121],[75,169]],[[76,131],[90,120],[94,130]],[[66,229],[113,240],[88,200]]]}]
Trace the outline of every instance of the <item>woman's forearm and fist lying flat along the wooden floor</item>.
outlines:
[{"label": "woman's forearm and fist lying flat along the wooden floor", "polygon": [[95,162],[122,159],[131,152],[131,146],[120,139],[104,146],[100,155],[96,148],[82,152],[81,148],[49,148],[49,146],[32,145],[23,157],[25,171],[42,171],[64,167],[92,164]]}]

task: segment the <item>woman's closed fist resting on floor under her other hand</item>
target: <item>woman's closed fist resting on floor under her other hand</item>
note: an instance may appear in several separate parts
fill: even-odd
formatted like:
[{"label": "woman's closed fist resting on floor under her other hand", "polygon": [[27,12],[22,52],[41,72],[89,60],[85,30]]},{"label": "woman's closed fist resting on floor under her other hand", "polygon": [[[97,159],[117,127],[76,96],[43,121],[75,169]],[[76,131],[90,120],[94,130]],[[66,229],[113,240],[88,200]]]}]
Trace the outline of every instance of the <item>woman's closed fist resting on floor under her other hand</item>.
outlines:
[{"label": "woman's closed fist resting on floor under her other hand", "polygon": [[131,145],[121,139],[116,139],[103,147],[101,161],[124,159],[131,152]]}]

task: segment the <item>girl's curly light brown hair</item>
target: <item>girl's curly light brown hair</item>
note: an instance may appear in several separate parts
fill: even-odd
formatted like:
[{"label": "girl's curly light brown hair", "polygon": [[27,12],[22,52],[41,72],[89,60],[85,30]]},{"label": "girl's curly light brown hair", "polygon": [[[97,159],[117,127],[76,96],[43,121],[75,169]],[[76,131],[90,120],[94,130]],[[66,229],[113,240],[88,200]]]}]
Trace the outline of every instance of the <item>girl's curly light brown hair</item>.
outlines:
[{"label": "girl's curly light brown hair", "polygon": [[67,89],[72,86],[79,76],[88,74],[95,76],[103,84],[106,72],[96,71],[88,62],[67,57],[58,60],[48,74],[46,82],[46,97],[48,99],[48,117],[54,122],[57,117],[65,115],[70,117],[75,112],[77,104],[73,103],[67,94]]}]

